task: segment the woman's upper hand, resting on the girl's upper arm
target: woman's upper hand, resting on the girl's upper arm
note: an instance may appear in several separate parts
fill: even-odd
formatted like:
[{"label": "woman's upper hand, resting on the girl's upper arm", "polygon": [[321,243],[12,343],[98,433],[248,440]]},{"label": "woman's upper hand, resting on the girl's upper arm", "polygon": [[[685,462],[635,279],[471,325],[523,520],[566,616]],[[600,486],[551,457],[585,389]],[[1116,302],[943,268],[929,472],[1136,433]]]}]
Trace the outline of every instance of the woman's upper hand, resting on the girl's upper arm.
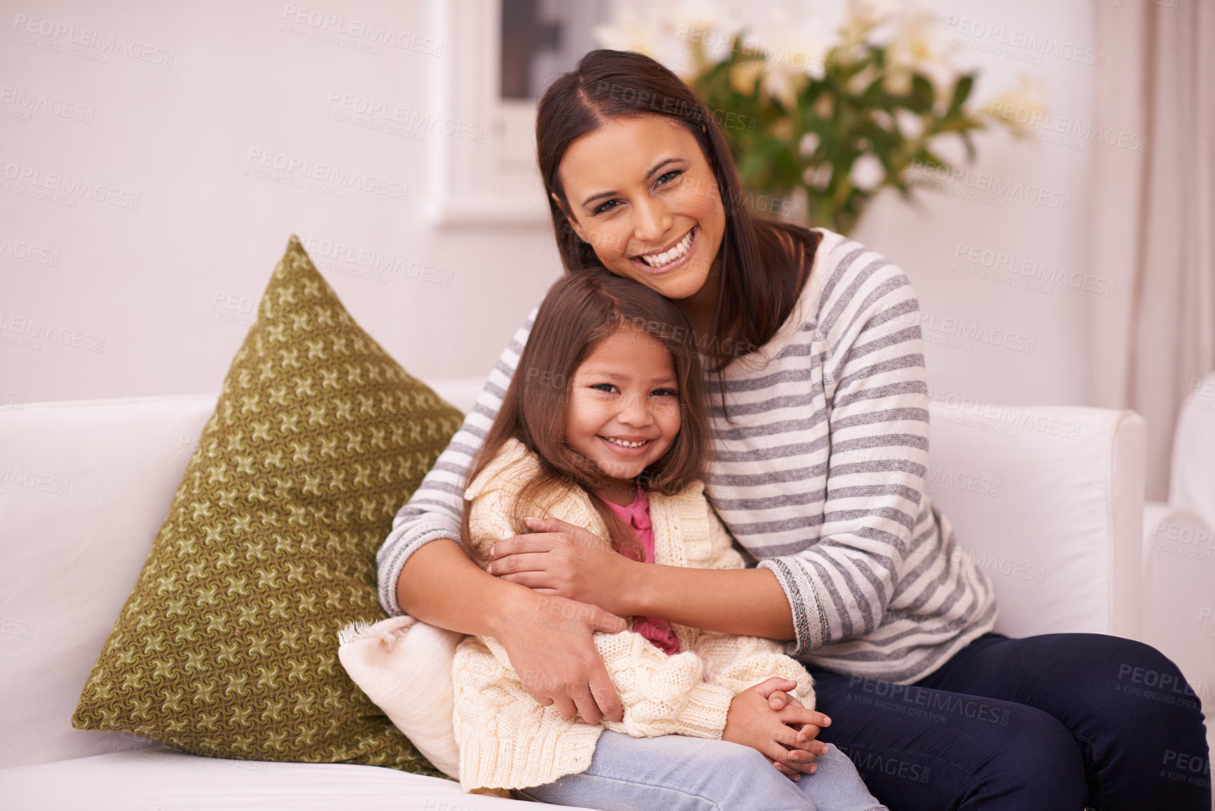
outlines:
[{"label": "woman's upper hand, resting on the girl's upper arm", "polygon": [[566,597],[628,615],[625,580],[635,562],[606,541],[560,518],[529,518],[535,530],[493,545],[490,574],[541,595]]}]

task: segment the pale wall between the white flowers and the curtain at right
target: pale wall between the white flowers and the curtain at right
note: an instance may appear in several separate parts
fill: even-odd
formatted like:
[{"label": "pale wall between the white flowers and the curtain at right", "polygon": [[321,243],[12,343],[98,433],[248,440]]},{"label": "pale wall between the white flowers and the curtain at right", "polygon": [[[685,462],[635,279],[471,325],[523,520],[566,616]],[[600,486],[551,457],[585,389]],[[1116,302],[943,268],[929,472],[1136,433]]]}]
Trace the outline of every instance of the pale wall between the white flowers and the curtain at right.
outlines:
[{"label": "pale wall between the white flowers and the curtain at right", "polygon": [[[1096,49],[1091,2],[940,0],[932,7],[942,17],[936,35],[961,38],[957,62],[981,69],[972,98],[985,102],[1016,86],[1024,74],[1044,91],[1050,125],[1061,118],[1092,123],[1094,75],[1101,68],[1056,55],[1098,61],[1091,52]],[[998,33],[989,38],[973,35],[993,28]],[[1012,45],[1030,38],[1035,49],[1036,43],[1045,46]],[[993,52],[999,47],[1004,52]],[[855,233],[898,263],[915,285],[931,385],[943,395],[1010,405],[1085,404],[1085,299],[1097,297],[1097,305],[1107,305],[1129,293],[1115,287],[1107,297],[1083,289],[1083,276],[1092,272],[1081,253],[1090,157],[1094,150],[1117,147],[1039,131],[1044,139],[1056,135],[1057,142],[1017,140],[999,131],[976,137],[978,159],[973,165],[961,160],[967,174],[948,185],[979,201],[922,190],[917,193],[922,207],[912,208],[889,196],[875,201]],[[965,157],[961,151],[950,154]],[[993,193],[995,185],[1008,193]],[[1049,192],[1047,204],[1029,202],[1041,193],[1032,190]],[[979,261],[966,261],[972,249]],[[1029,274],[1045,271],[1049,278],[1066,272],[1080,289],[1016,272],[1027,270],[1024,263],[1030,263]],[[1000,278],[977,275],[991,271]],[[1104,286],[1094,280],[1089,287]]]}]

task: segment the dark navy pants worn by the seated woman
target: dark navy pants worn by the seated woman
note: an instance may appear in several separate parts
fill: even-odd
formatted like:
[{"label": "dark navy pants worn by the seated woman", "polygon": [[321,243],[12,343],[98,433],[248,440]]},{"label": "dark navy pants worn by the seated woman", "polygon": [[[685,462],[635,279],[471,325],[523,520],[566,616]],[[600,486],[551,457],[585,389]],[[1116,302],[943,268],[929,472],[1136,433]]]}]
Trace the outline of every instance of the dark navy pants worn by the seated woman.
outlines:
[{"label": "dark navy pants worn by the seated woman", "polygon": [[891,811],[1209,811],[1198,695],[1115,636],[988,633],[911,686],[810,668],[833,743]]}]

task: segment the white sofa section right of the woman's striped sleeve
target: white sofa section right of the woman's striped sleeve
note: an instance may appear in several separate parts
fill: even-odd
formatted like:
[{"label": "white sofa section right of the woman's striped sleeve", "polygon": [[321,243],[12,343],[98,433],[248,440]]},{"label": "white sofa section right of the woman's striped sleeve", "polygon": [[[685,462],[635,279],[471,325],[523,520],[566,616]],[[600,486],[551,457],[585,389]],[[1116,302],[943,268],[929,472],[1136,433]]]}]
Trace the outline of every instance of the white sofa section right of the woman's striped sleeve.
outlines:
[{"label": "white sofa section right of the woman's striped sleeve", "polygon": [[927,491],[1010,636],[1136,637],[1146,426],[1132,411],[937,396]]}]

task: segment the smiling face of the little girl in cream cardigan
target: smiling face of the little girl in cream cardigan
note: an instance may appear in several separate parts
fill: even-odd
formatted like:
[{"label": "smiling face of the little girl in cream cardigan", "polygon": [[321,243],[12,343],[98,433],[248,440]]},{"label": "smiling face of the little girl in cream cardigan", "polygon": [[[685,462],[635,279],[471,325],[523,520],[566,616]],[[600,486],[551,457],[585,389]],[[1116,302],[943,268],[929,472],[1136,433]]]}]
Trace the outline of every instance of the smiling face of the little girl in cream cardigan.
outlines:
[{"label": "smiling face of the little girl in cream cardigan", "polygon": [[600,343],[573,372],[565,440],[598,468],[600,495],[627,505],[633,479],[679,434],[679,389],[661,342],[631,328]]}]

